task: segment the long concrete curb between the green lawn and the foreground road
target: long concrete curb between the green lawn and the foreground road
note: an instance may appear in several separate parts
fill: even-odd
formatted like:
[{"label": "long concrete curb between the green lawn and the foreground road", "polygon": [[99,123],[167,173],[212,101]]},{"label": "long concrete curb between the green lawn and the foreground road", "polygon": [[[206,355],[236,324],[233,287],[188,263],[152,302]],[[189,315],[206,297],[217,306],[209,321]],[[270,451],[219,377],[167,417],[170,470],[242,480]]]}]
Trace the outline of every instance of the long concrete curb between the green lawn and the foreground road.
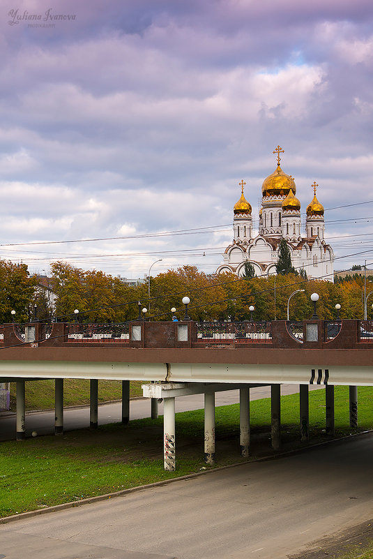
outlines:
[{"label": "long concrete curb between the green lawn and the foreground road", "polygon": [[135,493],[136,491],[144,491],[144,489],[151,489],[153,487],[160,487],[162,485],[168,485],[168,484],[171,484],[173,482],[181,482],[181,481],[183,481],[183,479],[193,479],[193,478],[199,477],[201,475],[211,474],[211,473],[214,473],[214,472],[221,472],[222,470],[228,470],[230,468],[237,468],[238,466],[241,466],[241,465],[244,465],[244,464],[245,465],[250,465],[250,464],[257,463],[257,462],[268,462],[268,461],[271,461],[271,460],[286,458],[287,456],[292,456],[294,454],[301,454],[301,453],[306,452],[307,450],[310,450],[310,449],[315,449],[317,447],[324,447],[326,445],[333,445],[333,444],[336,444],[338,442],[342,443],[346,440],[351,440],[351,438],[358,438],[362,435],[370,435],[372,433],[373,433],[373,429],[370,429],[368,431],[362,431],[361,433],[353,433],[351,435],[346,435],[344,437],[337,438],[337,439],[326,440],[326,441],[323,441],[323,442],[317,442],[314,445],[308,445],[307,447],[304,447],[304,448],[287,450],[287,451],[284,451],[284,452],[276,452],[275,454],[272,454],[271,456],[261,456],[261,458],[252,459],[252,460],[249,459],[246,462],[238,462],[238,463],[235,463],[235,464],[220,466],[220,468],[213,468],[211,470],[204,470],[203,472],[195,472],[193,474],[182,475],[182,476],[179,476],[179,477],[172,477],[170,479],[164,479],[162,482],[154,482],[153,484],[139,485],[137,487],[131,487],[130,489],[122,489],[121,491],[115,491],[114,493],[105,493],[104,495],[96,495],[95,497],[87,497],[86,499],[79,499],[77,501],[63,502],[63,503],[61,503],[61,505],[54,505],[53,507],[45,507],[44,509],[36,509],[36,510],[28,511],[28,512],[21,512],[20,514],[12,514],[11,516],[3,516],[2,518],[0,518],[0,524],[8,524],[10,522],[15,522],[17,520],[27,520],[27,519],[33,518],[33,516],[39,516],[40,514],[48,514],[50,512],[59,512],[59,511],[65,510],[65,509],[72,509],[72,508],[75,508],[75,507],[81,507],[82,505],[89,505],[93,502],[99,502],[99,501],[109,500],[109,499],[116,498],[116,497],[121,497],[123,495],[129,495],[130,493]]}]

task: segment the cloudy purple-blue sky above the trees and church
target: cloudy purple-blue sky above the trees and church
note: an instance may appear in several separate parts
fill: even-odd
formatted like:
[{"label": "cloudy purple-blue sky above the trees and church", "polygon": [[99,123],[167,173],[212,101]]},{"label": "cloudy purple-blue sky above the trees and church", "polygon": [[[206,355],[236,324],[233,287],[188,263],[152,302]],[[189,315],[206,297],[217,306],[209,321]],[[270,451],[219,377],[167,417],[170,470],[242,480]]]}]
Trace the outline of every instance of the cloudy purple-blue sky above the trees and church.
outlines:
[{"label": "cloudy purple-blue sky above the trees and church", "polygon": [[238,183],[257,226],[280,144],[303,213],[319,185],[335,269],[373,268],[371,0],[3,0],[0,13],[0,258],[40,274],[54,260],[213,273]]}]

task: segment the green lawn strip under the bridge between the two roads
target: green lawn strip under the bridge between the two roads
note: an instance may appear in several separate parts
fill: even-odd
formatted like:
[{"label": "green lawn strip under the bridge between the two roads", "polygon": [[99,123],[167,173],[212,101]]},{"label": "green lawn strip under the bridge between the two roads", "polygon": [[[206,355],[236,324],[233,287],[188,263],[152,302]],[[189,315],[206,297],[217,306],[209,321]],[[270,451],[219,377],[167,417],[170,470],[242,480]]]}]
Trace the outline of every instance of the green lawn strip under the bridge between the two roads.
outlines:
[{"label": "green lawn strip under the bridge between the two roads", "polygon": [[[359,387],[358,401],[359,431],[364,431],[373,426],[373,387]],[[299,395],[282,396],[281,403],[283,448],[304,447],[299,441]],[[250,417],[252,457],[271,455],[270,399],[252,401]],[[310,392],[311,442],[326,440],[324,427],[325,392],[315,390]],[[335,388],[335,429],[337,435],[351,432],[348,387]],[[163,470],[162,417],[0,442],[0,516],[246,461],[238,453],[238,430],[238,405],[216,408],[216,463],[206,466],[204,411],[178,413],[176,472]]]}]

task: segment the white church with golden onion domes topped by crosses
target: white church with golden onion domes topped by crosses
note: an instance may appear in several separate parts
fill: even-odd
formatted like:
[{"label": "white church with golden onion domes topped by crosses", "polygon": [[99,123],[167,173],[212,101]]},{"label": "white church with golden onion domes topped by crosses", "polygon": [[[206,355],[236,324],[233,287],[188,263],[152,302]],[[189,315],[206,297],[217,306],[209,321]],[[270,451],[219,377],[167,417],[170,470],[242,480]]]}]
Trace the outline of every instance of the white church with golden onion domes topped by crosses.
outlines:
[{"label": "white church with golden onion domes topped by crosses", "polygon": [[314,197],[306,209],[303,237],[296,184],[293,177],[280,167],[280,153],[284,150],[277,146],[273,153],[277,154],[277,168],[261,186],[258,234],[254,233],[252,207],[243,195],[245,182],[241,181],[241,198],[233,209],[233,242],[225,249],[224,263],[216,273],[228,271],[241,276],[247,261],[257,276],[276,274],[278,248],[284,238],[297,271],[305,271],[308,278],[333,281],[334,255],[331,246],[324,241],[324,209],[316,197],[318,185],[316,182],[312,185]]}]

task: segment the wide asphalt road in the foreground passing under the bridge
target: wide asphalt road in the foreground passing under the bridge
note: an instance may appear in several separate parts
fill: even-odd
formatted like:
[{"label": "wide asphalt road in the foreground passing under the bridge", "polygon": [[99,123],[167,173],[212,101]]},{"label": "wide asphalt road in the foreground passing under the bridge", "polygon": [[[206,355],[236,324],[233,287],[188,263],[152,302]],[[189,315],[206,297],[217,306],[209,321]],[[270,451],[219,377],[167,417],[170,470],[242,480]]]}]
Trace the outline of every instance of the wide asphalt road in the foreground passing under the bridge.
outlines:
[{"label": "wide asphalt road in the foreground passing under the bridge", "polygon": [[0,557],[285,559],[372,518],[372,461],[360,435],[18,520],[0,526]]}]

